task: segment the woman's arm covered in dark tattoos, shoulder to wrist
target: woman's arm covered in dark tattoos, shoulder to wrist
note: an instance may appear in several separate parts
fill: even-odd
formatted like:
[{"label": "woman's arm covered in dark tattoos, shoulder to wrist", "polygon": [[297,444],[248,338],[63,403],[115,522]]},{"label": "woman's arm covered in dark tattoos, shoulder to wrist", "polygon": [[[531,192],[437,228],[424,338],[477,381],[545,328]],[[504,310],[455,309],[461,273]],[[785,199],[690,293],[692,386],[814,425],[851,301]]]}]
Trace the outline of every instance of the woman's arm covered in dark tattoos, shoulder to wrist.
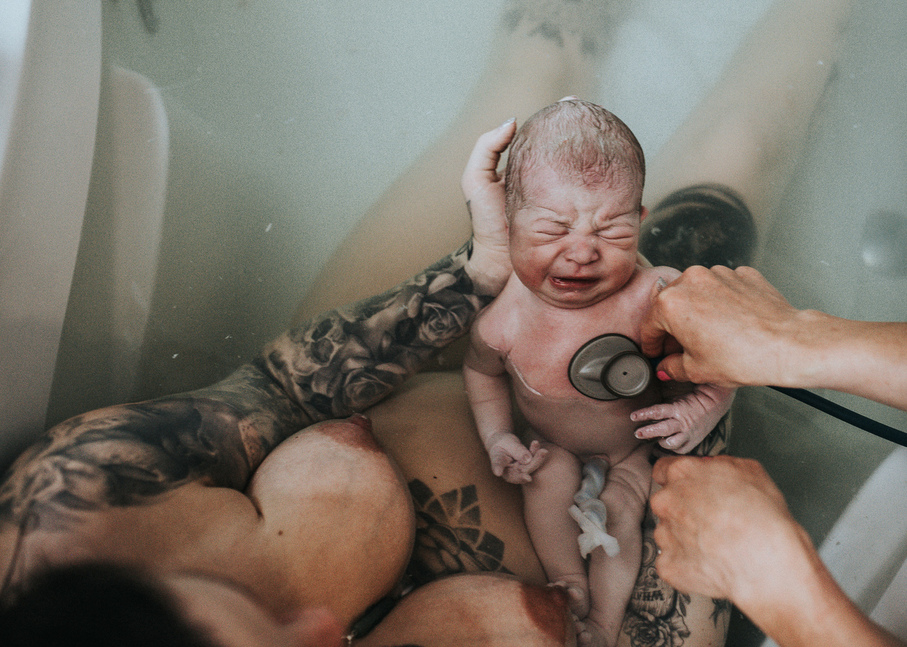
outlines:
[{"label": "woman's arm covered in dark tattoos, shoulder to wrist", "polygon": [[211,387],[57,425],[7,474],[0,523],[47,527],[190,481],[243,489],[283,439],[374,404],[468,330],[493,298],[467,273],[471,252],[298,326]]}]

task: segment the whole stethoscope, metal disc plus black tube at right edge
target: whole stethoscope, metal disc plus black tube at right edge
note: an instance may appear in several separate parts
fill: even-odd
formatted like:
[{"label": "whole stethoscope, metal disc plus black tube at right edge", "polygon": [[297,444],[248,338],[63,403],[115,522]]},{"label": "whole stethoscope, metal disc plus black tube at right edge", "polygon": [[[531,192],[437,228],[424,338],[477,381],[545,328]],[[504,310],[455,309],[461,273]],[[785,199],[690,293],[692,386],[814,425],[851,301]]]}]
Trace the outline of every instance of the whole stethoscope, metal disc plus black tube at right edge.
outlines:
[{"label": "whole stethoscope, metal disc plus black tube at right edge", "polygon": [[[629,337],[618,334],[599,335],[580,346],[574,353],[567,373],[577,391],[595,400],[633,398],[643,393],[655,377],[654,367],[660,358],[642,354]],[[863,431],[907,447],[907,433],[860,415],[811,391],[769,387],[800,402],[843,420]]]}]

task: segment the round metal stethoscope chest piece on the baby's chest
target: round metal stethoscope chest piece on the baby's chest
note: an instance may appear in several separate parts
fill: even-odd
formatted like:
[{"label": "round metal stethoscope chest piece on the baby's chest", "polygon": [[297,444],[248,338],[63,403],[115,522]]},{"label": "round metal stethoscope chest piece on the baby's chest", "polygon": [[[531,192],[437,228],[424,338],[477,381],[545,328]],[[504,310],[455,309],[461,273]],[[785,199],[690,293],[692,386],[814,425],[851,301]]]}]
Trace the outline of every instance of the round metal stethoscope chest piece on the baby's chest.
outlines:
[{"label": "round metal stethoscope chest piece on the baby's chest", "polygon": [[596,400],[632,398],[652,382],[652,364],[639,346],[623,335],[590,339],[580,347],[568,367],[570,383]]}]

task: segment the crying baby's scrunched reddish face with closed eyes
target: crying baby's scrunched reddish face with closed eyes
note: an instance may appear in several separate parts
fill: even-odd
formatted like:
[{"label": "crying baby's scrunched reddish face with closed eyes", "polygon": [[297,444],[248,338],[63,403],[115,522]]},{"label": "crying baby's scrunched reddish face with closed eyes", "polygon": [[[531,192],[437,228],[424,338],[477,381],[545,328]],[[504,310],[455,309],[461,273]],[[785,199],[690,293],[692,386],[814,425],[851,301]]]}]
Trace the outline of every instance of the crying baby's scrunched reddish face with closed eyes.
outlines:
[{"label": "crying baby's scrunched reddish face with closed eyes", "polygon": [[633,276],[642,190],[626,177],[583,186],[542,167],[527,177],[510,223],[510,256],[520,281],[542,300],[584,308]]}]

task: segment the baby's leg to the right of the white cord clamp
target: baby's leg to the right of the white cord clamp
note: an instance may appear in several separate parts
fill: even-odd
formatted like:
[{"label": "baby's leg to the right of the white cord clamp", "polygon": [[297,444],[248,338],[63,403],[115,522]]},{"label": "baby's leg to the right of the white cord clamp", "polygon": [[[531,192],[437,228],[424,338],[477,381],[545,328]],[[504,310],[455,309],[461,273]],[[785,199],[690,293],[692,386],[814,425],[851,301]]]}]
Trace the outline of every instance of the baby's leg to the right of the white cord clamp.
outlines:
[{"label": "baby's leg to the right of the white cord clamp", "polygon": [[596,549],[589,555],[591,608],[578,624],[580,645],[617,644],[642,558],[642,521],[652,480],[650,454],[649,445],[640,446],[608,472],[600,498],[608,509],[608,533],[617,538],[620,553],[608,557]]}]

